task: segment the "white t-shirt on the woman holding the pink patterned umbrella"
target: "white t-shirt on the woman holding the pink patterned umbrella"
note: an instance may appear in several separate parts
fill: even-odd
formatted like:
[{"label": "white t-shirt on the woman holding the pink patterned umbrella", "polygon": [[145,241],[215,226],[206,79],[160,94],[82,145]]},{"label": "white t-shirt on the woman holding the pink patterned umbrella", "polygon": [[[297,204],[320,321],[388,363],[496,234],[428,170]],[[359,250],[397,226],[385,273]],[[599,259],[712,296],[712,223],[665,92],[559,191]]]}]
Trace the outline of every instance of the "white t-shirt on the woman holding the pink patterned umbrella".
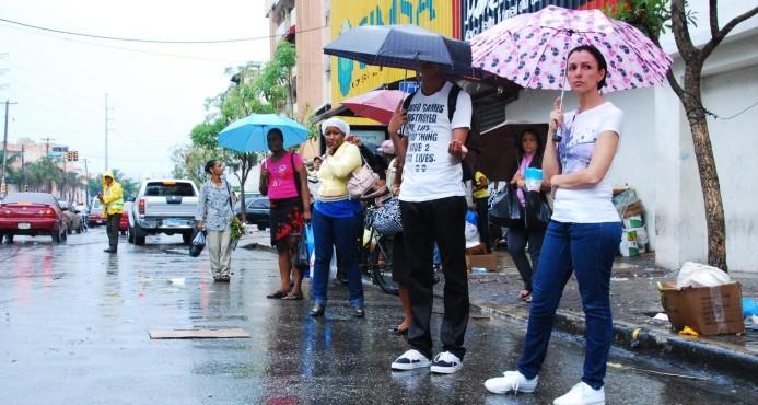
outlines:
[{"label": "white t-shirt on the woman holding the pink patterned umbrella", "polygon": [[[614,131],[621,136],[623,112],[605,102],[579,115],[576,111],[563,115],[564,125],[559,129],[562,137],[558,155],[562,174],[586,169],[595,150],[597,136]],[[552,219],[558,222],[599,223],[620,222],[614,204],[609,172],[594,186],[584,188],[558,188],[552,207]]]}]

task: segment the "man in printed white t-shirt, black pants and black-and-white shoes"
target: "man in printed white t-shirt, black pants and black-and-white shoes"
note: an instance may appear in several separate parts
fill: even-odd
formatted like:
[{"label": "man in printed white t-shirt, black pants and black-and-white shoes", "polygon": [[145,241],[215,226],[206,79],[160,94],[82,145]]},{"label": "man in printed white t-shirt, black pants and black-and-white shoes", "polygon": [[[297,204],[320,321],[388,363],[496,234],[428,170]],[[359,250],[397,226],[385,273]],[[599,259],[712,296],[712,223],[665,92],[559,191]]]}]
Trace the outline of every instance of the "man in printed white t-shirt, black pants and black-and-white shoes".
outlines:
[{"label": "man in printed white t-shirt, black pants and black-and-white shoes", "polygon": [[[407,111],[398,105],[389,136],[403,164],[400,212],[408,263],[412,321],[410,350],[393,363],[394,370],[430,367],[454,373],[463,366],[468,325],[466,274],[466,198],[460,162],[471,124],[471,97],[447,82],[442,67],[421,62],[421,89],[409,95]],[[452,92],[452,93],[451,93]],[[456,95],[457,94],[457,95]],[[443,351],[432,359],[432,255],[436,241],[445,275],[445,313],[440,328]]]}]

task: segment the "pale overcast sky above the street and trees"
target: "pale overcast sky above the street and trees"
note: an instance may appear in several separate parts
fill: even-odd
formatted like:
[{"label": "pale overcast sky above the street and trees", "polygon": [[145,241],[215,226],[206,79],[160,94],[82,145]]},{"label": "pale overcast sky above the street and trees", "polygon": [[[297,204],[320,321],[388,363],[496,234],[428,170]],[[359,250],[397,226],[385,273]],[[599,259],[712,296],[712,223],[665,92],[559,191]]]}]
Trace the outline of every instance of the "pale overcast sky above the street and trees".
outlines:
[{"label": "pale overcast sky above the street and trees", "polygon": [[[265,37],[263,0],[0,0],[0,19],[94,35],[166,40]],[[140,44],[73,37],[0,22],[0,101],[10,99],[9,142],[30,137],[78,150],[104,170],[105,94],[109,166],[139,178],[168,175],[203,102],[229,84],[226,67],[266,61],[269,40]],[[0,109],[0,114],[3,114]],[[0,123],[2,123],[0,116]],[[0,130],[1,127],[0,127]],[[1,135],[0,135],[1,136]]]}]

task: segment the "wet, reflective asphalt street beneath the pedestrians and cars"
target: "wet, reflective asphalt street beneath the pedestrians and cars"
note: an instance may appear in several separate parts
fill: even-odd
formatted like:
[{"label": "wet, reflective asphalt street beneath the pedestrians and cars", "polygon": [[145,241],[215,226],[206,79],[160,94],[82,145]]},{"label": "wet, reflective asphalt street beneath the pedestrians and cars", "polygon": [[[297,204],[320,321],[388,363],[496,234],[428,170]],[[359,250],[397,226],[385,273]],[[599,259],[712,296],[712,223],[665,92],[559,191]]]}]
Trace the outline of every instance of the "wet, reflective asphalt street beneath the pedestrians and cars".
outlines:
[{"label": "wet, reflective asphalt street beneath the pedestrians and cars", "polygon": [[[581,377],[582,339],[559,334],[535,394],[489,394],[483,381],[514,367],[524,326],[476,313],[460,372],[392,372],[407,349],[387,333],[399,300],[368,281],[365,319],[353,319],[347,288],[330,284],[326,317],[314,320],[308,281],[304,301],[265,298],[279,278],[269,251],[237,248],[232,282],[214,284],[207,252],[189,257],[180,236],[145,246],[123,236],[118,255],[102,252],[105,241],[98,228],[59,246],[49,238],[0,246],[0,404],[547,404]],[[191,327],[242,327],[252,338],[148,334]],[[608,370],[609,404],[758,403],[755,375],[617,348],[610,361],[622,368]]]}]

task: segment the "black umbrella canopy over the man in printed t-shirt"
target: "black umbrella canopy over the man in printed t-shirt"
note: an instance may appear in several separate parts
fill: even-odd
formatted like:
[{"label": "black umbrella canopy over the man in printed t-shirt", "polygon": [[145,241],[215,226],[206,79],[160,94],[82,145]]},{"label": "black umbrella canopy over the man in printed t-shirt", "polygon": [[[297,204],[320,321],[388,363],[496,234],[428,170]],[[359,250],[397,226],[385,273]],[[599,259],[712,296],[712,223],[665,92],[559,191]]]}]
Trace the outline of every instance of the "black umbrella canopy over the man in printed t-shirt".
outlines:
[{"label": "black umbrella canopy over the man in printed t-shirt", "polygon": [[417,25],[363,25],[324,47],[324,54],[366,65],[416,70],[419,61],[440,63],[445,73],[473,76],[471,47]]}]

